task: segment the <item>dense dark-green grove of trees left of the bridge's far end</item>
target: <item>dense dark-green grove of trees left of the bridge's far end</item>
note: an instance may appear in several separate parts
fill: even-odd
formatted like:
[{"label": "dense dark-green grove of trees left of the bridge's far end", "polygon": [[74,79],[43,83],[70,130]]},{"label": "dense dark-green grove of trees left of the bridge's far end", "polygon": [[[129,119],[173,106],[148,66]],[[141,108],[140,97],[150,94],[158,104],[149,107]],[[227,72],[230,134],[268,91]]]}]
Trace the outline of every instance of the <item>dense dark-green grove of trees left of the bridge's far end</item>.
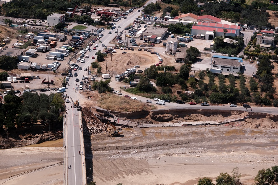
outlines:
[{"label": "dense dark-green grove of trees left of the bridge's far end", "polygon": [[[65,110],[64,99],[59,93],[24,92],[21,97],[16,96],[11,90],[4,96],[5,104],[0,104],[0,129],[3,125],[8,130],[15,129],[15,125],[35,124],[53,121],[56,126],[63,124],[63,116],[59,111]],[[52,107],[50,109],[50,107]]]}]

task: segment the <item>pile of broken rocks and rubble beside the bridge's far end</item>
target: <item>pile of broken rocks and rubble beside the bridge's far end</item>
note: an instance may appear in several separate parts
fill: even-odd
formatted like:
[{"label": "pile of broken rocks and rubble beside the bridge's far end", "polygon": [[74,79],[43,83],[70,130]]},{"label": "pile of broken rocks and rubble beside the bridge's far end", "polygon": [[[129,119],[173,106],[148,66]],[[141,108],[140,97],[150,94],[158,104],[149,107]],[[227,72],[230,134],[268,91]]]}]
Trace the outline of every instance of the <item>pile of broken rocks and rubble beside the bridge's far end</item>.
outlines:
[{"label": "pile of broken rocks and rubble beside the bridge's far end", "polygon": [[90,136],[92,134],[99,134],[106,132],[106,125],[99,121],[97,117],[87,107],[82,108],[83,113],[83,134]]}]

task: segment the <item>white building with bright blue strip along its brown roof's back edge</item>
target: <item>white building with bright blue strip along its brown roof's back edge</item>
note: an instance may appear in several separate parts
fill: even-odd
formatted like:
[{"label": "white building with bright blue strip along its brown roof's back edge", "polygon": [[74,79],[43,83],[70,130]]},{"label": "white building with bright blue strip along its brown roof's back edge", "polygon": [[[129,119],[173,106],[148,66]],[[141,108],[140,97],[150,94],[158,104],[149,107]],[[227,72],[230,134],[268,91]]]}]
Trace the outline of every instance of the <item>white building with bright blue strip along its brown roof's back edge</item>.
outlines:
[{"label": "white building with bright blue strip along its brown roof's back edge", "polygon": [[242,64],[242,58],[213,55],[211,58],[210,71],[215,74],[238,76]]}]

